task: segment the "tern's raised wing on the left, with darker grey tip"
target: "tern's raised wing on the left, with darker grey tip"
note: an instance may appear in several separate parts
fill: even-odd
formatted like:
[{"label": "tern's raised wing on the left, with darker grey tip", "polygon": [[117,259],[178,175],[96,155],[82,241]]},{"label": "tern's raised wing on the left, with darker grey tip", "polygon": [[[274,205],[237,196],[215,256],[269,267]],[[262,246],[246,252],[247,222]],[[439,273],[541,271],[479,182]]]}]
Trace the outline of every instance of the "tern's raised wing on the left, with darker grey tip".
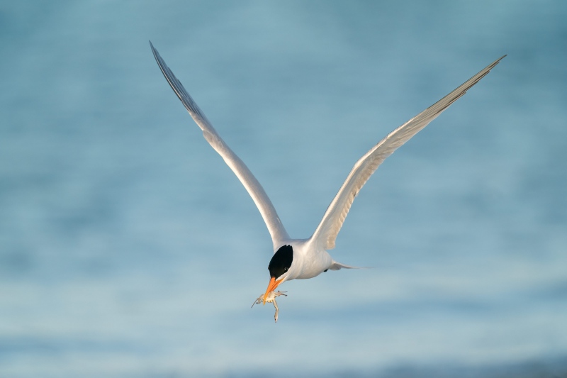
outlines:
[{"label": "tern's raised wing on the left, with darker grey tip", "polygon": [[167,67],[162,57],[159,56],[159,53],[151,42],[150,46],[157,65],[159,65],[160,70],[162,70],[165,79],[167,79],[167,82],[169,82],[169,85],[179,97],[187,111],[189,111],[193,121],[203,130],[203,136],[207,142],[223,157],[223,160],[225,160],[226,164],[232,169],[232,172],[235,172],[240,182],[242,182],[242,185],[244,185],[252,197],[252,200],[254,200],[254,204],[258,207],[268,227],[275,250],[275,248],[281,245],[281,241],[289,239],[289,236],[279,219],[278,213],[276,213],[274,205],[271,204],[266,191],[264,191],[264,188],[262,188],[262,185],[260,185],[256,177],[254,177],[254,174],[250,172],[250,169],[240,160],[240,157],[230,150],[223,138],[220,138],[215,128],[213,128],[201,109],[195,104],[195,101],[191,99],[191,96],[189,96],[183,84],[175,77],[172,70],[169,70],[169,67]]}]

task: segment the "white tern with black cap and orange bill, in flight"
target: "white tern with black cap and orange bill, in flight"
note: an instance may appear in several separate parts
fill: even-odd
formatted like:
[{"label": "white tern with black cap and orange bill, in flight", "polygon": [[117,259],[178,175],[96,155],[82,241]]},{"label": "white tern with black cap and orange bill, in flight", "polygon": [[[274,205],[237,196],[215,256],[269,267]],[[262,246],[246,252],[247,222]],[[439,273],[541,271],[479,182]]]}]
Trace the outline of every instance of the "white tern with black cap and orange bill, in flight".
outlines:
[{"label": "white tern with black cap and orange bill, in flight", "polygon": [[262,218],[264,218],[264,222],[271,235],[271,241],[274,245],[274,255],[271,257],[268,265],[270,282],[264,296],[258,299],[259,301],[262,300],[264,304],[266,304],[266,299],[271,298],[269,294],[283,282],[291,281],[291,279],[313,278],[322,272],[327,272],[328,269],[339,270],[341,268],[354,268],[336,262],[327,252],[327,250],[335,248],[335,239],[342,227],[344,219],[347,217],[354,197],[357,196],[371,174],[376,171],[386,157],[390,156],[396,149],[410,140],[410,138],[418,131],[422,130],[422,128],[425,128],[434,118],[437,118],[442,111],[453,104],[456,99],[463,96],[469,88],[473,87],[474,84],[485,77],[485,75],[506,56],[504,55],[498,60],[495,60],[495,62],[485,67],[485,69],[478,72],[478,74],[471,77],[471,79],[468,79],[454,91],[451,91],[447,96],[444,96],[441,100],[425,109],[425,111],[422,111],[417,114],[417,116],[410,119],[410,121],[393,130],[386,135],[386,138],[383,138],[378,144],[366,152],[366,154],[356,162],[354,167],[352,167],[347,179],[344,180],[339,192],[331,201],[331,204],[327,208],[327,211],[325,211],[325,215],[313,235],[308,239],[292,239],[289,237],[286,228],[283,227],[278,213],[276,213],[276,209],[274,209],[274,205],[271,204],[262,185],[260,185],[244,162],[242,162],[242,160],[232,152],[225,141],[220,138],[220,135],[218,135],[215,128],[213,128],[213,125],[210,124],[201,109],[198,108],[195,101],[189,96],[181,82],[179,82],[173,72],[169,70],[169,67],[167,67],[151,42],[150,46],[154,53],[155,60],[162,70],[164,77],[167,79],[167,82],[169,82],[169,85],[184,104],[187,111],[189,111],[193,121],[203,130],[203,136],[208,143],[223,157],[226,164],[235,172],[238,179],[240,179],[242,185],[244,185],[250,196],[252,196],[252,200],[262,214]]}]

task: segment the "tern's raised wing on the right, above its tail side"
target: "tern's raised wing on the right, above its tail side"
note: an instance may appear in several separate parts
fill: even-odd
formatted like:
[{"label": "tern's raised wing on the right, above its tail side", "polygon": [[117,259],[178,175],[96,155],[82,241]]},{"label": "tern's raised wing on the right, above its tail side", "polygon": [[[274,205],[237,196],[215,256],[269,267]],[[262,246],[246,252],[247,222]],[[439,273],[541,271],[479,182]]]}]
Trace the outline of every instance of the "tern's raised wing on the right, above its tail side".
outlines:
[{"label": "tern's raised wing on the right, above its tail side", "polygon": [[[505,57],[504,55],[503,57]],[[466,91],[473,87],[480,79],[485,77],[490,70],[493,69],[498,62],[503,59],[500,57],[492,64],[488,65],[484,70],[468,79],[459,88],[444,96],[441,100],[417,114],[410,121],[404,123],[402,126],[396,128],[389,133],[386,138],[383,138],[377,145],[366,152],[366,155],[352,167],[346,180],[342,184],[341,189],[332,200],[331,204],[325,211],[321,223],[311,236],[311,240],[322,245],[322,248],[330,250],[335,248],[335,239],[342,227],[344,219],[347,218],[350,206],[354,197],[357,196],[361,187],[366,184],[371,174],[378,169],[386,157],[390,156],[398,147],[410,140],[413,135],[417,134],[422,128],[425,128],[431,121],[433,121],[439,114],[453,104],[459,97],[463,96]]]}]

